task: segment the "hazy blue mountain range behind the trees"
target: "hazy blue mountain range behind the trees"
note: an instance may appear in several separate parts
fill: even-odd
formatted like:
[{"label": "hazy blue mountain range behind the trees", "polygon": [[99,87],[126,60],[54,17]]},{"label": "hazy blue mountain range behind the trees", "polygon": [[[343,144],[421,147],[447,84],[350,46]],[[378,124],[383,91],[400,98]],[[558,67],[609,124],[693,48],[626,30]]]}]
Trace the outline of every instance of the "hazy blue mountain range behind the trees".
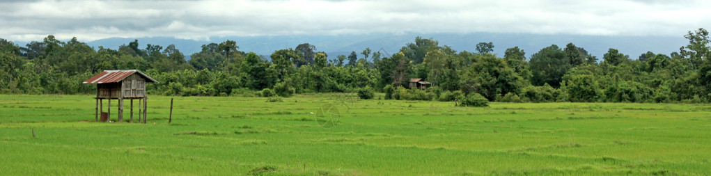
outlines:
[{"label": "hazy blue mountain range behind the trees", "polygon": [[[316,50],[324,51],[329,59],[337,55],[348,55],[351,51],[358,53],[365,48],[370,48],[373,52],[383,49],[390,55],[397,53],[402,46],[407,43],[414,43],[415,37],[433,38],[439,41],[439,45],[448,45],[457,51],[467,50],[474,52],[476,43],[493,42],[494,53],[503,57],[506,48],[518,46],[522,48],[526,57],[537,53],[541,48],[552,44],[565,48],[567,43],[574,43],[577,47],[585,48],[588,53],[595,55],[602,60],[602,56],[609,48],[616,48],[621,53],[636,59],[642,53],[651,51],[653,53],[669,54],[678,52],[679,48],[688,43],[683,38],[683,34],[678,37],[660,36],[596,36],[596,35],[539,35],[523,33],[379,33],[366,35],[274,35],[255,37],[215,37],[210,40],[186,40],[173,37],[148,37],[148,38],[105,38],[94,40],[87,44],[92,47],[104,46],[105,48],[118,49],[120,45],[128,45],[134,39],[139,41],[141,48],[146,44],[167,45],[174,44],[181,53],[189,60],[190,55],[200,52],[201,45],[209,43],[221,43],[225,40],[235,40],[240,47],[239,50],[254,52],[258,55],[269,57],[274,50],[285,48],[296,48],[301,43],[309,43],[316,46]],[[24,43],[18,43],[24,45]]]}]

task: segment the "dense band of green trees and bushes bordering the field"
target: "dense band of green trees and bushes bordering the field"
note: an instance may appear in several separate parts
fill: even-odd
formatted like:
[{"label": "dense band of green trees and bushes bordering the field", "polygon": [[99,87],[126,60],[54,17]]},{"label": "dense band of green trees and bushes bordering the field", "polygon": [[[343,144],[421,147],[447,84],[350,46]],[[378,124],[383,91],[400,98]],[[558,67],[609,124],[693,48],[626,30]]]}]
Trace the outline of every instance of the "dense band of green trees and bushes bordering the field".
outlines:
[{"label": "dense band of green trees and bushes bordering the field", "polygon": [[[269,59],[225,40],[202,45],[187,61],[175,45],[139,48],[138,40],[112,50],[53,35],[26,46],[0,38],[0,93],[93,94],[95,85],[83,80],[103,70],[137,69],[159,80],[148,87],[150,94],[181,96],[368,90],[384,92],[385,99],[441,101],[476,94],[512,102],[710,102],[708,32],[699,28],[684,37],[689,44],[679,52],[647,52],[636,59],[610,48],[599,60],[573,43],[550,45],[530,58],[513,47],[502,57],[492,53],[490,42],[458,52],[417,37],[393,55],[365,48],[328,57],[304,43],[276,50]],[[423,78],[432,87],[402,88],[410,78]]]}]

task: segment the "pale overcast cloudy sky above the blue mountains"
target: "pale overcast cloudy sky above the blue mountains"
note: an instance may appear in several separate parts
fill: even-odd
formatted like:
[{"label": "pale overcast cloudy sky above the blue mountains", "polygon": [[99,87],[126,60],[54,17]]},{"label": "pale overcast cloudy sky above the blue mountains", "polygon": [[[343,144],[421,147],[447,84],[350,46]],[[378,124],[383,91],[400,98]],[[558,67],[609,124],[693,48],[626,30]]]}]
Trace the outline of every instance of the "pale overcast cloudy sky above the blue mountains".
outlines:
[{"label": "pale overcast cloudy sky above the blue mountains", "polygon": [[0,38],[535,33],[680,36],[711,28],[711,1],[237,0],[0,2]]}]

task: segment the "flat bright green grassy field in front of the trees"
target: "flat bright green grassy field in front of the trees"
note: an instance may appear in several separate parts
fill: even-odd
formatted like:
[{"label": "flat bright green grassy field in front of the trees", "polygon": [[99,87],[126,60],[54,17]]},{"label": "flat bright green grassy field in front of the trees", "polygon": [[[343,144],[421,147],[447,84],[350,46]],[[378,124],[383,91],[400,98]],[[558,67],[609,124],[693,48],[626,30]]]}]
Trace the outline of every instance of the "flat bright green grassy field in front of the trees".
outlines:
[{"label": "flat bright green grassy field in front of the trees", "polygon": [[97,123],[90,96],[0,95],[0,175],[711,175],[708,104],[175,97],[168,123],[170,99]]}]

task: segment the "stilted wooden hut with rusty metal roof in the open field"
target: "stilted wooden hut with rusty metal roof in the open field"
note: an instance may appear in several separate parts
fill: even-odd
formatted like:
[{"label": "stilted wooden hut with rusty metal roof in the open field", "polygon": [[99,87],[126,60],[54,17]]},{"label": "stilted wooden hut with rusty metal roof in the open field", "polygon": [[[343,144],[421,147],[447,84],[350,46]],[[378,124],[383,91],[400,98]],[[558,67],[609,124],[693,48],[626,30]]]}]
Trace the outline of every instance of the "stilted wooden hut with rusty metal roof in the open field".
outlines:
[{"label": "stilted wooden hut with rusty metal roof in the open field", "polygon": [[[96,84],[96,115],[95,120],[99,121],[101,112],[102,121],[109,121],[111,115],[111,99],[118,99],[119,114],[118,121],[124,120],[124,99],[131,100],[131,122],[133,122],[133,100],[139,99],[138,120],[141,121],[141,100],[143,100],[143,123],[146,123],[146,82],[157,82],[155,79],[138,70],[104,70],[84,81],[84,84]],[[109,101],[108,112],[104,112],[104,102]]]}]

